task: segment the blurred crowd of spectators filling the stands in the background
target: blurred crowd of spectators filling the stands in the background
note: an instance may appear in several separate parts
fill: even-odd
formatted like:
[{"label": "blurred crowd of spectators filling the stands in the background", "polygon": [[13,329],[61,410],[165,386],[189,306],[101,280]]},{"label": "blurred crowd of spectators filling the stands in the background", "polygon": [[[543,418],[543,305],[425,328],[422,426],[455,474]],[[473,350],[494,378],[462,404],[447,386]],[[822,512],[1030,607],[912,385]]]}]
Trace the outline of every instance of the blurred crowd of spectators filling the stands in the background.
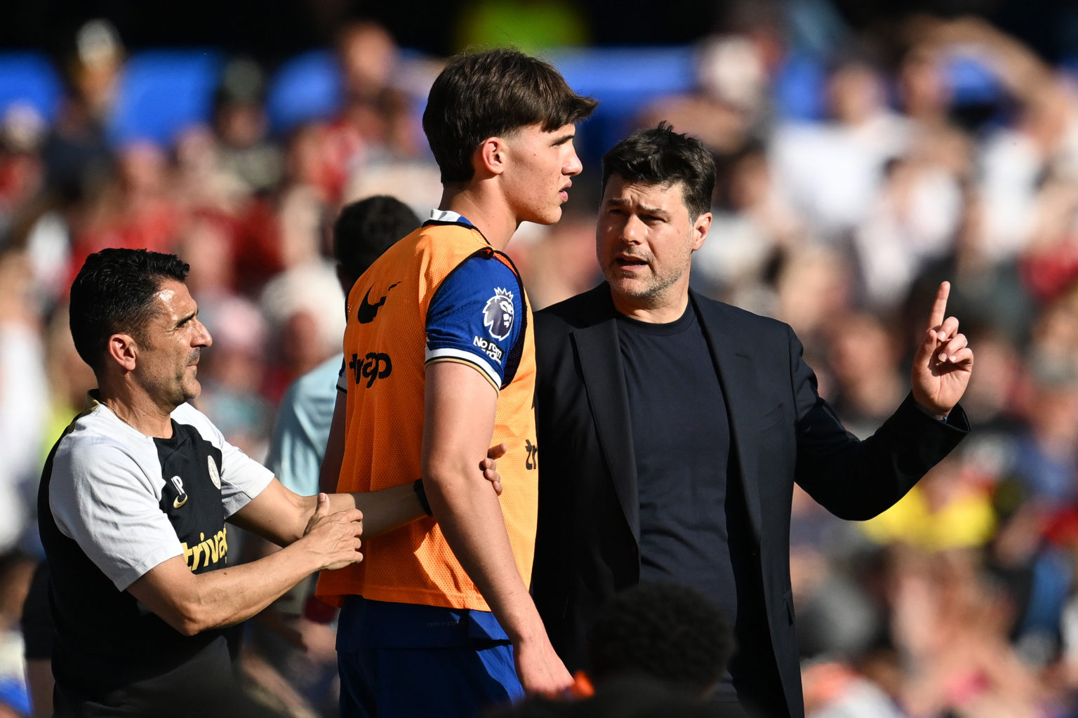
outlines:
[{"label": "blurred crowd of spectators filling the stands in the background", "polygon": [[[825,12],[842,40],[806,50],[784,6],[738,5],[694,49],[694,88],[632,118],[718,162],[695,289],[792,325],[860,437],[908,392],[942,279],[977,356],[971,436],[899,505],[857,524],[794,496],[808,715],[1078,716],[1078,74],[976,17],[910,16],[873,42]],[[38,475],[93,383],[67,329],[84,258],[146,247],[191,264],[213,335],[197,403],[264,458],[289,383],[340,350],[340,207],[392,194],[426,216],[441,194],[419,126],[440,61],[376,24],[340,33],[333,118],[271,134],[265,70],[236,58],[211,121],[167,146],[107,135],[123,42],[103,20],[77,40],[55,120],[0,116],[0,703],[16,712]],[[510,245],[535,308],[600,279],[588,157],[606,149],[581,148],[565,218]],[[331,629],[280,631],[324,677]],[[331,678],[299,690],[257,645],[245,661],[292,715],[332,715],[310,689]]]}]

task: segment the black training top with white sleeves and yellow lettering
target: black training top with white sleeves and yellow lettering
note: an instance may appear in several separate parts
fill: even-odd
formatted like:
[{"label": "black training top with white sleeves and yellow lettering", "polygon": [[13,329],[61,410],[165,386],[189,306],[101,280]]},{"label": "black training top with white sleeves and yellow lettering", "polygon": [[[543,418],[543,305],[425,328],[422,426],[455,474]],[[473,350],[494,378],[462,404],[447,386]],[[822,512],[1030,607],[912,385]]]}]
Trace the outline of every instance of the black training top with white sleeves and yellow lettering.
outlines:
[{"label": "black training top with white sleeves and yellow lettering", "polygon": [[[227,566],[225,520],[273,474],[190,404],[172,412],[169,439],[154,439],[91,399],[49,456],[38,515],[57,684],[72,700],[112,703],[132,687],[157,693],[156,682],[178,679],[192,662],[210,672],[227,665],[222,632],[184,636],[126,589],[174,556],[195,574]],[[160,688],[176,695],[175,686]]]}]

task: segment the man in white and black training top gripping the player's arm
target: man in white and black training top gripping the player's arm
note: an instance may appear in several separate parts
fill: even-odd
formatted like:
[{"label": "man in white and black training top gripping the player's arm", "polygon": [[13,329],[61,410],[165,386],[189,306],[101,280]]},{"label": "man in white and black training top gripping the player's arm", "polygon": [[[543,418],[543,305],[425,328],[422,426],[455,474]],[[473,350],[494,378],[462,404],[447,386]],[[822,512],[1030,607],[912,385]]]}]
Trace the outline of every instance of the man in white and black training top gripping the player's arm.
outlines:
[{"label": "man in white and black training top gripping the player's arm", "polygon": [[[369,534],[424,515],[411,486],[296,496],[186,403],[211,343],[186,273],[171,254],[106,249],[71,286],[71,333],[98,389],[38,495],[59,716],[250,715],[224,629],[359,561],[357,500]],[[286,548],[236,565],[226,522]]]}]

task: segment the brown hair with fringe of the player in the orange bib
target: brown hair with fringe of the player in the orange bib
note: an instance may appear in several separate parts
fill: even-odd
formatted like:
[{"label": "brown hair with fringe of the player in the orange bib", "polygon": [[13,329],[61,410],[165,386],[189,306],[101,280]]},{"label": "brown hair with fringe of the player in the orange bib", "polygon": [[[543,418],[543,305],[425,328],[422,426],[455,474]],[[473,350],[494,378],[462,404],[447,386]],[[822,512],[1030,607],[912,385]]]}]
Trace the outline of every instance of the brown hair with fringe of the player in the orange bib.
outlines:
[{"label": "brown hair with fringe of the player in the orange bib", "polygon": [[487,137],[540,124],[553,132],[595,110],[548,63],[509,47],[456,55],[430,87],[423,130],[442,183],[472,178],[472,153]]}]

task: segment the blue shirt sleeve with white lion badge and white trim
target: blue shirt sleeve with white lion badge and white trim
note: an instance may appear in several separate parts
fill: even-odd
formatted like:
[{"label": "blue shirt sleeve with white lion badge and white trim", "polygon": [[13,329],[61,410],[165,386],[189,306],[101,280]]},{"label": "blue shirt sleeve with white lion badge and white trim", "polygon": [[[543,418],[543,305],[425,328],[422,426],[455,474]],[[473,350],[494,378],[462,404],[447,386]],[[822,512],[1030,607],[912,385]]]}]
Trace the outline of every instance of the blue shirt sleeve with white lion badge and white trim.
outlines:
[{"label": "blue shirt sleeve with white lion badge and white trim", "polygon": [[516,275],[497,258],[465,260],[430,301],[427,363],[459,361],[473,365],[496,387],[508,385],[516,364],[509,359],[523,340],[523,293]]}]

